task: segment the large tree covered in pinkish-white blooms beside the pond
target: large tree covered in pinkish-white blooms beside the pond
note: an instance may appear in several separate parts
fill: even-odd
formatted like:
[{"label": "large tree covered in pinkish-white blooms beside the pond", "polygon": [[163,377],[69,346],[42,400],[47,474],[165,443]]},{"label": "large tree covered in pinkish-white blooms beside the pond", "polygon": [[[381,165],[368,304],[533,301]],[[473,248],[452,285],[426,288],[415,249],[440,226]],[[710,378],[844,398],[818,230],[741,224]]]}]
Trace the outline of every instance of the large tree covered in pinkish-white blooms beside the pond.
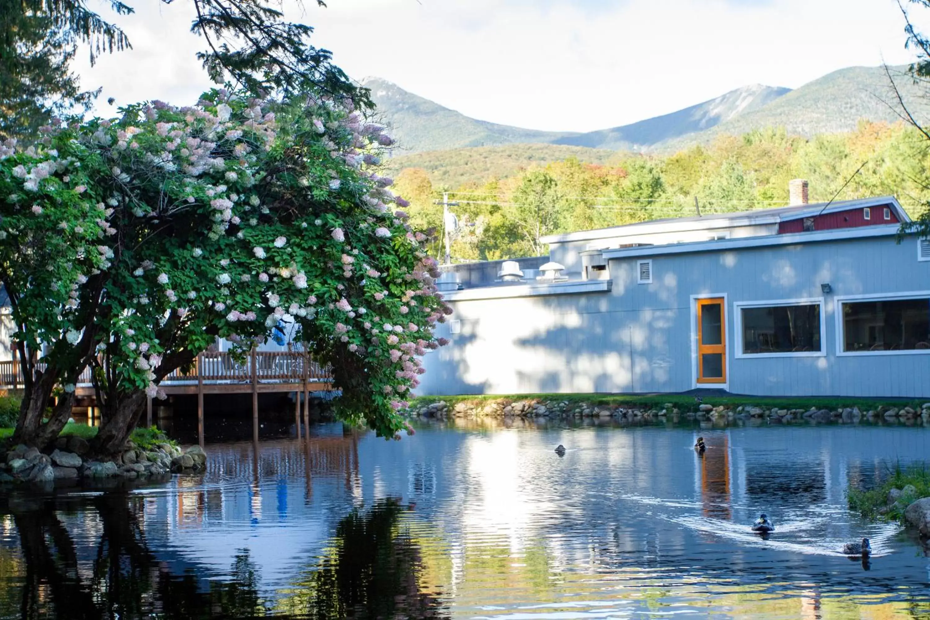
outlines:
[{"label": "large tree covered in pinkish-white blooms beside the pond", "polygon": [[451,310],[426,238],[377,174],[391,145],[352,99],[225,91],[47,127],[37,149],[7,143],[0,280],[28,375],[17,440],[57,436],[89,366],[96,447],[115,452],[167,374],[218,336],[245,351],[282,320],[332,365],[342,416],[395,436]]}]

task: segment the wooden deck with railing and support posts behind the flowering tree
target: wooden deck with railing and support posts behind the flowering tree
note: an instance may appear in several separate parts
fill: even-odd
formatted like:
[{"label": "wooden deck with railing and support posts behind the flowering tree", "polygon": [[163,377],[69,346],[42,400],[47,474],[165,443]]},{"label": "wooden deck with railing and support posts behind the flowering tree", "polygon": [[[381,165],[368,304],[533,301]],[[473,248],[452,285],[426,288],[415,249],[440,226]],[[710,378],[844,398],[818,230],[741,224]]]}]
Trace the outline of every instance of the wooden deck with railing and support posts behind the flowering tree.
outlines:
[{"label": "wooden deck with railing and support posts behind the flowering tree", "polygon": [[[0,362],[0,389],[19,389],[22,375],[19,360]],[[75,396],[94,399],[90,382],[91,370],[87,368],[75,385]],[[295,392],[295,423],[300,435],[300,398],[309,400],[310,392],[331,389],[332,377],[328,368],[312,361],[300,352],[256,351],[249,352],[244,359],[236,360],[229,353],[201,353],[187,373],[175,371],[166,376],[159,385],[168,395],[197,396],[197,435],[204,444],[204,395],[205,394],[251,394],[252,429],[259,436],[259,393]],[[307,407],[304,406],[304,427],[309,422]],[[152,426],[152,399],[149,399],[147,426]]]}]

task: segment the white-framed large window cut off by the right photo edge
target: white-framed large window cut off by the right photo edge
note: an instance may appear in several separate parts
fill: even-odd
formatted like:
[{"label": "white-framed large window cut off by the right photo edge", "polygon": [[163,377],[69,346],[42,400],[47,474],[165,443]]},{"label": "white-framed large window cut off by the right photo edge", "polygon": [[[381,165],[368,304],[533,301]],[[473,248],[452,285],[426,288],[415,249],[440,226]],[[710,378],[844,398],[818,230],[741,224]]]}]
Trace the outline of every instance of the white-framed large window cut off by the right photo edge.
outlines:
[{"label": "white-framed large window cut off by the right photo edge", "polygon": [[930,296],[842,300],[843,351],[930,350]]}]

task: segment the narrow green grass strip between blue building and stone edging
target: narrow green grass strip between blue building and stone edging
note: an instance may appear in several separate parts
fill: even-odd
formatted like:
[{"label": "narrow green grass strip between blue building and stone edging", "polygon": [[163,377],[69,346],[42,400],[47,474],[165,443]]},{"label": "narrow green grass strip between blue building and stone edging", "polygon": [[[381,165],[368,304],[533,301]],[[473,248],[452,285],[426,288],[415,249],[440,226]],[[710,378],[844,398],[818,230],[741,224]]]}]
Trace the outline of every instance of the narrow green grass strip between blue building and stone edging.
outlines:
[{"label": "narrow green grass strip between blue building and stone edging", "polygon": [[[842,409],[845,407],[858,407],[863,413],[870,409],[878,409],[884,405],[886,407],[904,407],[910,406],[920,409],[923,402],[930,401],[927,398],[923,401],[889,401],[866,398],[842,398],[842,397],[811,397],[811,398],[789,398],[789,397],[754,397],[754,396],[704,396],[703,402],[717,405],[752,405],[762,408],[778,409]],[[654,394],[654,395],[624,395],[624,394],[485,394],[480,396],[461,395],[461,396],[419,396],[413,399],[410,407],[417,408],[428,405],[432,402],[448,402],[455,405],[458,402],[468,404],[480,404],[489,401],[549,401],[549,402],[568,402],[569,404],[585,402],[588,404],[598,405],[623,405],[640,408],[662,408],[666,403],[671,403],[674,407],[682,411],[691,411],[697,408],[695,397],[691,394]]]}]

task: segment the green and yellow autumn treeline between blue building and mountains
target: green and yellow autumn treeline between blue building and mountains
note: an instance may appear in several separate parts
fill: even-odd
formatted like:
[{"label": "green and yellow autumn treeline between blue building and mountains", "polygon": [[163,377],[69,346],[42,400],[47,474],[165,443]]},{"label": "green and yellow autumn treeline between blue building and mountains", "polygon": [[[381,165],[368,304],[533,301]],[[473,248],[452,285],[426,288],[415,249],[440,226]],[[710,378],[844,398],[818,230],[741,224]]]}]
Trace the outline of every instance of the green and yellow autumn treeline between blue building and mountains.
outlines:
[{"label": "green and yellow autumn treeline between blue building and mountains", "polygon": [[[592,152],[597,163],[578,156],[539,161],[544,153],[533,151],[535,161],[521,165],[513,147],[483,149],[485,178],[475,180],[472,171],[460,182],[448,167],[462,167],[456,158],[472,158],[470,150],[437,152],[432,156],[442,165],[405,167],[394,190],[410,201],[416,225],[437,231],[443,227],[437,203],[450,192],[458,203],[450,210],[458,217],[452,256],[459,260],[544,254],[539,238],[552,232],[693,216],[697,208],[709,214],[783,206],[792,178],[810,182],[811,202],[895,195],[911,216],[930,202],[930,141],[904,124],[863,122],[856,131],[813,139],[753,131],[667,157]],[[434,250],[438,255],[438,242]]]}]

